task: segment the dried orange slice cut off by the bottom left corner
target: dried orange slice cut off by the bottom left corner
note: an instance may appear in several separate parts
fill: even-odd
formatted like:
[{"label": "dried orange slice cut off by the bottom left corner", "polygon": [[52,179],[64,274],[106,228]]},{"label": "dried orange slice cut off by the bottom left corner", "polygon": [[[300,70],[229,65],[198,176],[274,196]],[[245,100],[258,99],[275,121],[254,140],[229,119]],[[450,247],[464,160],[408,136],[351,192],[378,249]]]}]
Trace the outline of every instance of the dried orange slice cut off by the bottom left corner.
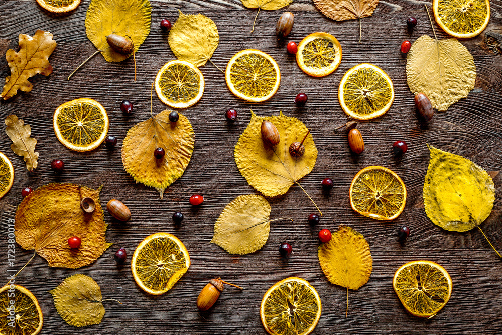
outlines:
[{"label": "dried orange slice cut off by the bottom left corner", "polygon": [[36,335],[44,324],[37,298],[20,285],[0,288],[0,315],[0,335]]}]

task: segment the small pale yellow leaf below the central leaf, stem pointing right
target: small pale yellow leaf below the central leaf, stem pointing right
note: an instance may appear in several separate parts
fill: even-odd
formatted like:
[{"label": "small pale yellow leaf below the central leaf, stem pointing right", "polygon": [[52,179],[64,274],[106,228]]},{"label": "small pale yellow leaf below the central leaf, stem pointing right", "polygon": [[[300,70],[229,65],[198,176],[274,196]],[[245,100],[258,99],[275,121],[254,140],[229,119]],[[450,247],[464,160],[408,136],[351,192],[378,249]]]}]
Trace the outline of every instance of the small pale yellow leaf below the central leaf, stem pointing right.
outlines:
[{"label": "small pale yellow leaf below the central leaf, stem pointing right", "polygon": [[271,210],[261,195],[239,196],[218,217],[211,243],[230,254],[245,255],[259,250],[269,238]]}]

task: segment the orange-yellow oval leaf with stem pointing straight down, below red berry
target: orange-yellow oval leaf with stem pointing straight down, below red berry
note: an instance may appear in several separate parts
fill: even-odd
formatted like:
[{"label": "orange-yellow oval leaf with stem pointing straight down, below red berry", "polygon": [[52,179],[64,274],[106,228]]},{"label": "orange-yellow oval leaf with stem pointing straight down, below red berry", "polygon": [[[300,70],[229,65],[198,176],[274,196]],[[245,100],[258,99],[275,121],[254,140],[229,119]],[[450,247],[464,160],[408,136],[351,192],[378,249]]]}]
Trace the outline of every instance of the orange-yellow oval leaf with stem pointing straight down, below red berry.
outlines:
[{"label": "orange-yellow oval leaf with stem pointing straight down, below red berry", "polygon": [[347,289],[357,290],[366,284],[373,270],[369,244],[348,226],[341,225],[331,240],[317,250],[319,264],[328,280]]}]

